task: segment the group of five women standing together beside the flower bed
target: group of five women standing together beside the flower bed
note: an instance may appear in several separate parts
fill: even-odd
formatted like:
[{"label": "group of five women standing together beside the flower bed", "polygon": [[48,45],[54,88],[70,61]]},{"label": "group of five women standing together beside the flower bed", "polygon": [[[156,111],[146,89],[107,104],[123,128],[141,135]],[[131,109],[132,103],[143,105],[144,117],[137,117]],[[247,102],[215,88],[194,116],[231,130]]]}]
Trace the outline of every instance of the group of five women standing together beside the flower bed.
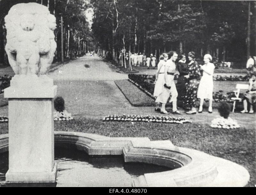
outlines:
[{"label": "group of five women standing together beside the flower bed", "polygon": [[183,108],[189,111],[186,114],[196,114],[196,98],[200,98],[198,113],[203,111],[204,99],[209,99],[208,112],[212,113],[212,92],[214,64],[211,63],[212,56],[204,55],[204,65],[198,65],[195,52],[188,53],[189,63],[186,63],[186,55],[179,57],[177,69],[179,78],[175,85],[174,74],[176,72],[175,61],[178,58],[176,51],[163,53],[157,65],[156,84],[154,97],[156,97],[157,112],[169,114],[165,105],[170,97],[172,102],[172,113],[181,114],[177,109],[177,99],[183,102]]}]

